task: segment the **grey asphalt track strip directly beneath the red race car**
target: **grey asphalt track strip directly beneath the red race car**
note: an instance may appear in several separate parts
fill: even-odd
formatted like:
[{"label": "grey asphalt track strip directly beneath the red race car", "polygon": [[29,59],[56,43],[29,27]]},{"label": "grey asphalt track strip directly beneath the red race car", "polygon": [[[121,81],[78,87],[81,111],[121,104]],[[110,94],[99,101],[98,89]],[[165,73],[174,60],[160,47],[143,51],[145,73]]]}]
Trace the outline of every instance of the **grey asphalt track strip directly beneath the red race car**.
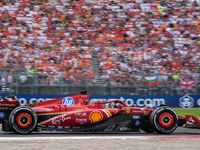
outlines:
[{"label": "grey asphalt track strip directly beneath the red race car", "polygon": [[9,138],[200,138],[200,129],[186,129],[184,127],[178,127],[171,134],[158,134],[158,133],[145,133],[145,132],[107,132],[107,133],[96,133],[96,132],[33,132],[32,134],[15,134],[12,132],[3,132],[2,126],[0,125],[0,140]]}]

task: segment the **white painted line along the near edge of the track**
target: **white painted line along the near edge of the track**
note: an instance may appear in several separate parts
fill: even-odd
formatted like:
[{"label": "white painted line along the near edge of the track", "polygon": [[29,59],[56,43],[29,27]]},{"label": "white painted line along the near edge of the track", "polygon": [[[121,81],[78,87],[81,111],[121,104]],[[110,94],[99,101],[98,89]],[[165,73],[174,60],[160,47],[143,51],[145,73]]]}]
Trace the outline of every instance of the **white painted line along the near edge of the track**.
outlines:
[{"label": "white painted line along the near edge of the track", "polygon": [[0,137],[0,141],[4,140],[86,140],[86,139],[148,139],[144,136],[86,136],[86,137]]}]

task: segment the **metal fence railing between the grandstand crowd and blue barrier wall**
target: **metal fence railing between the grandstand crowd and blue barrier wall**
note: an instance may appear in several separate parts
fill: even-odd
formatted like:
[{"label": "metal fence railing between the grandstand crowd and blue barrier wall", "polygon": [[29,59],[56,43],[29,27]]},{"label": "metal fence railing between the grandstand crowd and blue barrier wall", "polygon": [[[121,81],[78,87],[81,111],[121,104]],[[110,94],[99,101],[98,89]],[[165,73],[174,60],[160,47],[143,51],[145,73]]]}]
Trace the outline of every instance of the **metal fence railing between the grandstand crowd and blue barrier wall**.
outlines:
[{"label": "metal fence railing between the grandstand crowd and blue barrier wall", "polygon": [[[0,94],[68,95],[88,90],[93,95],[182,95],[200,94],[200,78],[192,76],[158,76],[149,85],[143,76],[118,76],[62,73],[1,72]],[[152,78],[150,78],[152,79]],[[182,81],[183,79],[184,81]],[[150,81],[149,81],[150,82]],[[151,81],[152,82],[152,81]]]}]

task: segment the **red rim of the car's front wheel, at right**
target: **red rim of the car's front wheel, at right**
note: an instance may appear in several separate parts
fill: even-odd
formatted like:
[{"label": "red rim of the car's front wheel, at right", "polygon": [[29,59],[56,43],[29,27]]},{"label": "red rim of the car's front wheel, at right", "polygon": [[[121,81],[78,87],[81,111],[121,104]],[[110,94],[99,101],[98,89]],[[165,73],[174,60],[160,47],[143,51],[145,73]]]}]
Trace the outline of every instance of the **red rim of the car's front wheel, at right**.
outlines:
[{"label": "red rim of the car's front wheel, at right", "polygon": [[173,123],[174,118],[170,113],[165,112],[159,116],[159,124],[161,127],[170,128],[173,125]]}]

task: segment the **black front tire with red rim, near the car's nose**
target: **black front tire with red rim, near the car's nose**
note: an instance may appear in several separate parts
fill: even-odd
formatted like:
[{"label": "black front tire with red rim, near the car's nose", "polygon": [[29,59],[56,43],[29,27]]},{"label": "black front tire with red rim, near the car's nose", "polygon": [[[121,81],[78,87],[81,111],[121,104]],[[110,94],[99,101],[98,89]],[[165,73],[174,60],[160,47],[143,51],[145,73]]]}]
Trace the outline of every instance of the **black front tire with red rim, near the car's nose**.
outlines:
[{"label": "black front tire with red rim, near the car's nose", "polygon": [[178,115],[170,107],[158,107],[150,115],[150,124],[157,133],[170,134],[178,126]]}]

